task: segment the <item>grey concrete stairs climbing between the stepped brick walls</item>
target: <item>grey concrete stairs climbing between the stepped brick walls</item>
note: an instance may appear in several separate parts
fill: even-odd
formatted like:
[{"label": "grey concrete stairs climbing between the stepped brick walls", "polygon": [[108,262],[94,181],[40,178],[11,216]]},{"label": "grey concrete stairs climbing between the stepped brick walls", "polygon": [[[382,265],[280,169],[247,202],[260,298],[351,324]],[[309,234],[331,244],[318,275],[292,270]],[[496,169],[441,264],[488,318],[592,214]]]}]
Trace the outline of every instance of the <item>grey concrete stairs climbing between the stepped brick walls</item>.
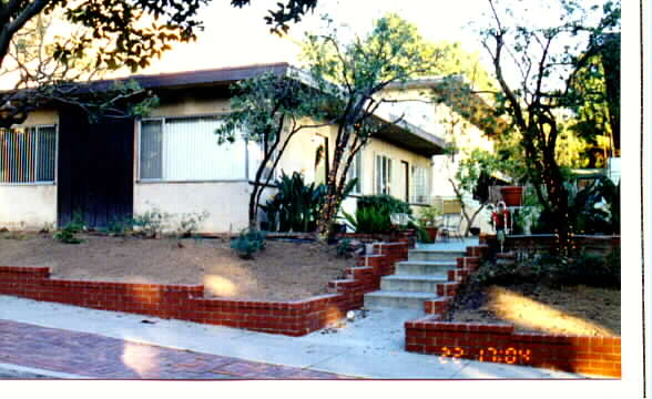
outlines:
[{"label": "grey concrete stairs climbing between the stepped brick walls", "polygon": [[365,294],[365,307],[424,309],[437,299],[437,285],[448,282],[463,250],[411,249],[408,260],[396,264],[396,274],[380,279],[380,290]]}]

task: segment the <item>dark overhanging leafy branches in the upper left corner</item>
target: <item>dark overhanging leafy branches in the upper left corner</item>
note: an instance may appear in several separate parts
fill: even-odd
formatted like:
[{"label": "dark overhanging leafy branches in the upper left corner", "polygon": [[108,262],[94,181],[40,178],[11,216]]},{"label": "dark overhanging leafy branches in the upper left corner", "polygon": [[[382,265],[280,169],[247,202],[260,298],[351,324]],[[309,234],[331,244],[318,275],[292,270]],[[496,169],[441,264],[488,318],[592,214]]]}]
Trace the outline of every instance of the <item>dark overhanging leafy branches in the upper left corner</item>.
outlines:
[{"label": "dark overhanging leafy branches in the upper left corner", "polygon": [[[202,6],[211,0],[32,0],[0,1],[0,68],[3,72],[19,68],[21,70],[17,90],[29,88],[22,93],[2,94],[0,106],[0,126],[21,123],[34,108],[52,100],[65,100],[71,96],[81,101],[79,86],[71,83],[80,66],[80,60],[92,63],[96,70],[116,70],[122,66],[136,71],[150,64],[153,58],[170,49],[173,42],[187,42],[196,38],[196,31],[203,28],[198,19]],[[286,31],[287,23],[298,21],[313,10],[316,0],[288,0],[277,3],[266,17],[273,31]],[[232,6],[244,7],[249,0],[233,0]],[[26,54],[33,50],[29,42],[39,42],[43,34],[44,18],[57,16],[65,22],[78,27],[74,34],[64,40],[55,40],[47,47],[40,45],[35,52],[27,55],[34,62],[23,62],[13,58],[18,64],[7,64],[12,43],[19,52]],[[29,39],[30,34],[37,39]],[[22,48],[21,48],[22,47]],[[43,61],[47,58],[45,64]],[[58,66],[52,66],[58,63]],[[47,68],[45,68],[47,66]],[[26,73],[27,72],[27,73]],[[43,90],[33,88],[47,84]],[[124,89],[124,88],[123,88]],[[134,93],[135,91],[135,93]],[[115,105],[126,96],[140,94],[140,90],[116,90],[105,95],[104,108]]]}]

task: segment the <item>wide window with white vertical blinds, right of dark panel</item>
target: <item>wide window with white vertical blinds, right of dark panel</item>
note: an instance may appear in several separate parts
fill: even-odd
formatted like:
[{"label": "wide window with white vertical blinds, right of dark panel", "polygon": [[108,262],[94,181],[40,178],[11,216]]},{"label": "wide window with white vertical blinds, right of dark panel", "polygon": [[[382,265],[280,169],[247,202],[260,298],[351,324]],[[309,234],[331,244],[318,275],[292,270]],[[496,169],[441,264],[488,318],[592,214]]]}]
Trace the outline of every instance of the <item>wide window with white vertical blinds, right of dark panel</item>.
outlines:
[{"label": "wide window with white vertical blinds, right of dark panel", "polygon": [[246,144],[236,140],[218,145],[214,132],[221,123],[217,116],[142,121],[140,178],[171,182],[245,180]]}]

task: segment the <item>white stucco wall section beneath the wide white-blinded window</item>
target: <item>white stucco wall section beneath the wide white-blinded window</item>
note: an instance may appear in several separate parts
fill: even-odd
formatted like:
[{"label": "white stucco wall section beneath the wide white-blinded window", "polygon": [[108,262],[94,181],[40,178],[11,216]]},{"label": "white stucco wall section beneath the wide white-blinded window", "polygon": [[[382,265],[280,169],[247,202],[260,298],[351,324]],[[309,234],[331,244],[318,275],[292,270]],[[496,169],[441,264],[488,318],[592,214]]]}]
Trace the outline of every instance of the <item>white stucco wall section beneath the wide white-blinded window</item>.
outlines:
[{"label": "white stucco wall section beneath the wide white-blinded window", "polygon": [[[136,183],[133,212],[157,207],[181,216],[208,212],[200,228],[206,233],[238,233],[247,226],[249,185],[246,182]],[[175,219],[172,228],[176,228]]]}]

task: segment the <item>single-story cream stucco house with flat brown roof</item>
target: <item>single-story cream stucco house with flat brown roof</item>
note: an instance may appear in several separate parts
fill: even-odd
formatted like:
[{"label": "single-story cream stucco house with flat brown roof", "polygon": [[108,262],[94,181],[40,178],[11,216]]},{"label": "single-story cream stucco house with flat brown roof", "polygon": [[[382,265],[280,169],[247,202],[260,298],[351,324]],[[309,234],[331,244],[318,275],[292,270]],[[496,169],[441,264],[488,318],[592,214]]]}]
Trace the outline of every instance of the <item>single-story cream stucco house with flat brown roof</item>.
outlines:
[{"label": "single-story cream stucco house with flat brown roof", "polygon": [[[237,232],[247,205],[259,149],[236,141],[217,144],[221,116],[230,112],[230,85],[265,72],[289,73],[286,63],[137,75],[160,104],[147,117],[101,120],[71,106],[32,112],[21,125],[0,131],[0,227],[63,226],[80,213],[89,227],[106,226],[159,208],[202,213],[203,232]],[[319,146],[333,154],[334,126],[299,133],[278,171],[322,181]],[[375,137],[350,175],[355,195],[385,193],[418,206],[431,193],[431,158],[444,141],[409,123]],[[352,206],[349,200],[345,207]]]}]

